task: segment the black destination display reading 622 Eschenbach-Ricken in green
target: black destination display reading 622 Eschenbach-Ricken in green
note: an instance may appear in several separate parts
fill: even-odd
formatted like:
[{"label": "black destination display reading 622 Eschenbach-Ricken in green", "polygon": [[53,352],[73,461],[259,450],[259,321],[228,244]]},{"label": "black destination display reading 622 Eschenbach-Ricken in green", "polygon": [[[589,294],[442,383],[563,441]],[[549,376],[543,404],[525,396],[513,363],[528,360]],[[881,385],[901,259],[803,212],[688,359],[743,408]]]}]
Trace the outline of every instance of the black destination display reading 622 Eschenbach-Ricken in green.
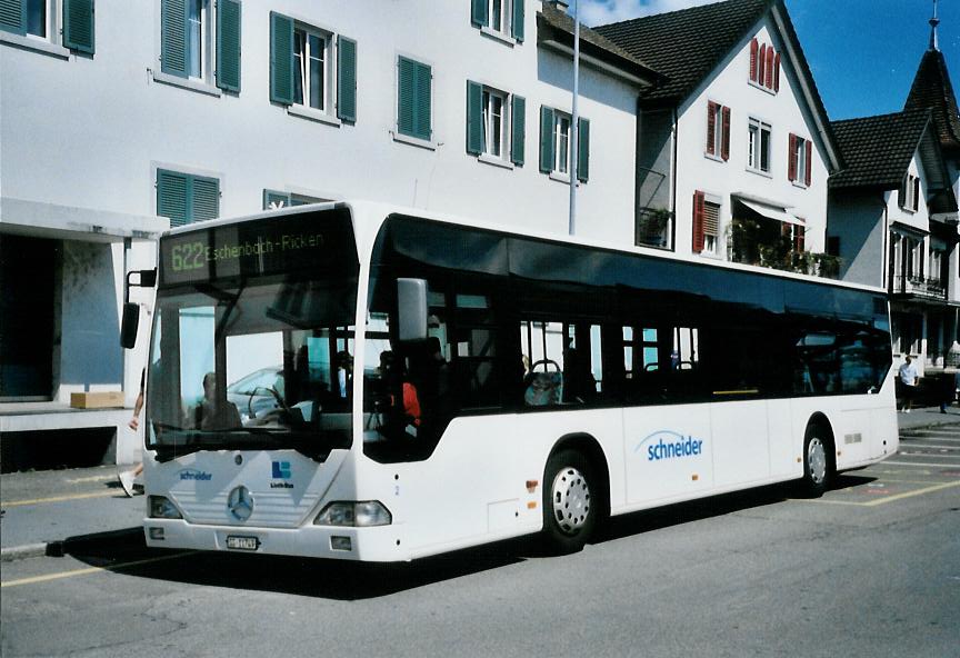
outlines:
[{"label": "black destination display reading 622 Eschenbach-Ricken in green", "polygon": [[357,263],[346,209],[213,227],[160,240],[160,285],[343,268]]}]

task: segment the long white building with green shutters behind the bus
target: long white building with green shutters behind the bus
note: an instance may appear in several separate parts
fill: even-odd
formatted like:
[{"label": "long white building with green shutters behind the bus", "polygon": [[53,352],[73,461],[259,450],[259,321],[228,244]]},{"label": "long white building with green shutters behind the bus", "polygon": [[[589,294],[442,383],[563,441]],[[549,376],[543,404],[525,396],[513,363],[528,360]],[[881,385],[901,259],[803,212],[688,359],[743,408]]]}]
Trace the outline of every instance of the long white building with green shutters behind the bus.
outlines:
[{"label": "long white building with green shutters behind the bus", "polygon": [[[94,390],[132,403],[146,357],[119,348],[123,277],[153,267],[170,223],[364,198],[567,233],[577,158],[578,232],[633,239],[623,144],[654,73],[584,30],[578,149],[572,23],[551,3],[2,8],[0,240],[52,273],[28,289],[4,270],[0,408]],[[39,418],[4,427],[66,427]]]}]

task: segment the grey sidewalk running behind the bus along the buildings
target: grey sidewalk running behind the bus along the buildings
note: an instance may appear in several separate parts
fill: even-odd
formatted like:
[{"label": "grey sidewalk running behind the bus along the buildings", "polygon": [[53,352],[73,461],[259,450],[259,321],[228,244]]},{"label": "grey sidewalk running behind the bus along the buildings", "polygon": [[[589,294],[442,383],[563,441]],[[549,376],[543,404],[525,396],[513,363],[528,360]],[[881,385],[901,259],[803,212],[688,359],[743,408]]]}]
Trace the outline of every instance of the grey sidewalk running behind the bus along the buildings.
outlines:
[{"label": "grey sidewalk running behind the bus along the buildings", "polygon": [[[900,431],[960,423],[960,409],[937,407],[897,413]],[[140,528],[143,496],[127,498],[112,466],[3,473],[0,477],[0,560],[42,556],[49,544],[98,532]]]}]

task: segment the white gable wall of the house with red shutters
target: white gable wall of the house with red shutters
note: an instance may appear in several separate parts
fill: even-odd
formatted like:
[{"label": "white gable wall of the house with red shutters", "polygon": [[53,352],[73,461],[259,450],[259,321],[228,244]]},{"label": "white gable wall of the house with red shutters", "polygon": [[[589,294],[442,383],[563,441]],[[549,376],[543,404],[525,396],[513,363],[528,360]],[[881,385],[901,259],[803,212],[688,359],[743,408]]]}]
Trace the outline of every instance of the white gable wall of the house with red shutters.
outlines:
[{"label": "white gable wall of the house with red shutters", "polygon": [[[771,93],[751,86],[750,40],[772,43],[781,53],[780,90]],[[718,102],[731,110],[730,159],[727,162],[707,157],[707,103]],[[770,176],[748,170],[748,127],[750,118],[771,124]],[[803,188],[787,178],[789,134],[813,141],[811,185]],[[680,108],[677,143],[677,251],[692,248],[693,192],[701,190],[722,197],[721,241],[719,253],[726,255],[723,229],[731,220],[730,195],[747,192],[792,208],[791,213],[807,221],[806,249],[822,252],[827,226],[827,178],[824,144],[819,139],[813,118],[799,88],[797,72],[777,31],[764,19],[746,36],[717,70]],[[802,178],[802,172],[801,172]]]}]

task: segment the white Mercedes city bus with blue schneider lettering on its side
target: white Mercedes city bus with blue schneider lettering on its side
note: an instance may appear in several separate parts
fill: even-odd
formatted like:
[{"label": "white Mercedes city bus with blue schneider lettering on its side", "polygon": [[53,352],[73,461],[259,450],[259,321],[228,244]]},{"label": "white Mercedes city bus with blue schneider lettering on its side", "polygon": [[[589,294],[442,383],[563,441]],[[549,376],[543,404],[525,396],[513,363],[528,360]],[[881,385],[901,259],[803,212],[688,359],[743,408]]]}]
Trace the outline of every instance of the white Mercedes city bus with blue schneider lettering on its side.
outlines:
[{"label": "white Mercedes city bus with blue schneider lettering on its side", "polygon": [[152,547],[573,551],[898,448],[878,289],[364,202],[173,229],[156,283]]}]

